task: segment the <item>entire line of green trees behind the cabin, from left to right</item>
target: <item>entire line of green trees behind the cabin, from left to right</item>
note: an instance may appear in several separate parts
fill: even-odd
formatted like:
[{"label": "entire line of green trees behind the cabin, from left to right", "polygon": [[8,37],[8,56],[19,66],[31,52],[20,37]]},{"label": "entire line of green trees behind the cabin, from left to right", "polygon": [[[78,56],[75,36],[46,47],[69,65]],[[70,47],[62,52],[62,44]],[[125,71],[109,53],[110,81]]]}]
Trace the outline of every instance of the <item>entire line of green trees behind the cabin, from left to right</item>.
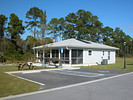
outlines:
[{"label": "entire line of green trees behind the cabin, from left to right", "polygon": [[[32,47],[61,41],[69,38],[85,39],[120,48],[117,56],[124,54],[124,42],[127,42],[126,53],[133,54],[133,38],[126,35],[119,27],[106,26],[91,12],[78,10],[64,18],[46,20],[46,11],[38,7],[30,8],[26,13],[26,26],[19,17],[12,13],[8,18],[0,15],[0,61],[27,60],[33,55]],[[26,40],[21,38],[25,30],[33,33]]]}]

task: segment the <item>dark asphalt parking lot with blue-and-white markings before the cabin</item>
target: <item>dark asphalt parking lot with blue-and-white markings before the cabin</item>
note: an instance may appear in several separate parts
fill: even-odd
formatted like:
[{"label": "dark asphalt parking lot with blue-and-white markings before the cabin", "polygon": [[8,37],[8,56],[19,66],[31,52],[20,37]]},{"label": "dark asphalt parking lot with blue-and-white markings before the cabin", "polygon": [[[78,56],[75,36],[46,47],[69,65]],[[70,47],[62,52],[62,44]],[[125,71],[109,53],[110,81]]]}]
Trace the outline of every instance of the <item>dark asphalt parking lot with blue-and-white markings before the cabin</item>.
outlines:
[{"label": "dark asphalt parking lot with blue-and-white markings before the cabin", "polygon": [[52,89],[110,76],[128,73],[127,71],[96,70],[81,68],[76,70],[51,70],[38,73],[12,73],[12,75],[41,83],[40,90]]}]

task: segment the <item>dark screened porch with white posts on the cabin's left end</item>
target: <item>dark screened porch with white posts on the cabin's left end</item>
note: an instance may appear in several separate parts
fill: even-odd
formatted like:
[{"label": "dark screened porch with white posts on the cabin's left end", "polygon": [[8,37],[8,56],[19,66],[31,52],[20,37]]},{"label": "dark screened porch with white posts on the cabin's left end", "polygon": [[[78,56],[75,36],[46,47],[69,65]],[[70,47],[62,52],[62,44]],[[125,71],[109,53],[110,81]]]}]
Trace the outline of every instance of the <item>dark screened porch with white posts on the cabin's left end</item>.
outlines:
[{"label": "dark screened porch with white posts on the cabin's left end", "polygon": [[63,49],[54,48],[48,50],[36,49],[36,57],[31,57],[30,61],[44,64],[83,64],[82,49]]}]

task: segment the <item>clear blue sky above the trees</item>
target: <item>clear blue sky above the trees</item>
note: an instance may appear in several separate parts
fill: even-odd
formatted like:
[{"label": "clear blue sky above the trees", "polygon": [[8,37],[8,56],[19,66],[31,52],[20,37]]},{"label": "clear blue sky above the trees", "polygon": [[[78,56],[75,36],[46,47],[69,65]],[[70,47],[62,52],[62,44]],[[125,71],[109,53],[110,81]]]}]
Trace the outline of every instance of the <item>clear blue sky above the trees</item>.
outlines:
[{"label": "clear blue sky above the trees", "polygon": [[[98,16],[104,26],[120,27],[133,38],[133,0],[0,0],[0,14],[9,17],[15,13],[25,25],[26,12],[34,6],[46,10],[47,21],[79,9],[88,10]],[[26,31],[22,38],[28,35],[32,34]]]}]

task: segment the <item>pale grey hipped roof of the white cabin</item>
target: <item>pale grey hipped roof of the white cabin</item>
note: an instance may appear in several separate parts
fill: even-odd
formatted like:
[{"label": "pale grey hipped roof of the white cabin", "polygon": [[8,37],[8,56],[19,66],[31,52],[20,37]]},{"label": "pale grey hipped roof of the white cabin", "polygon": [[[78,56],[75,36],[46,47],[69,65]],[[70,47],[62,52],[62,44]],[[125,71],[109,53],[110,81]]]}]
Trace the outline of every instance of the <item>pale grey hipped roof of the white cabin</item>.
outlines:
[{"label": "pale grey hipped roof of the white cabin", "polygon": [[[60,42],[55,42],[55,43],[50,43],[47,45],[44,45],[45,47],[48,48],[89,48],[89,49],[107,49],[107,50],[119,50],[119,48],[104,45],[104,44],[99,44],[91,41],[86,41],[86,40],[77,40],[75,38],[67,39],[64,41]],[[33,49],[40,49],[43,48],[43,46],[37,46],[34,47]]]}]

